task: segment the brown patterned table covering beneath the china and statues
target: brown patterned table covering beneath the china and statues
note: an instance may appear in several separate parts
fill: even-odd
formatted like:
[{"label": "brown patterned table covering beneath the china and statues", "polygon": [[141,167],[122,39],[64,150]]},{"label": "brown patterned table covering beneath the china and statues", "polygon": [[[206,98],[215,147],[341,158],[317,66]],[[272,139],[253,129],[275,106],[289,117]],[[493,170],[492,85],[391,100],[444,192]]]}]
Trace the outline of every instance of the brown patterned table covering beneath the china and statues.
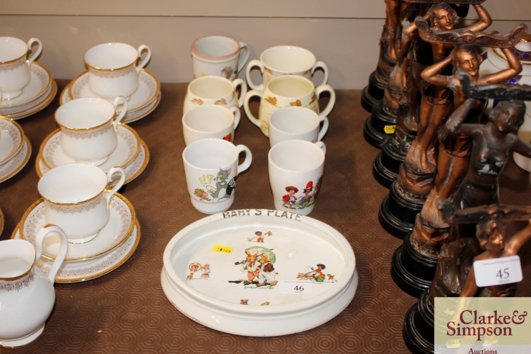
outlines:
[{"label": "brown patterned table covering beneath the china and statues", "polygon": [[[28,164],[0,183],[0,208],[5,226],[0,239],[11,237],[25,210],[39,198],[35,159],[45,137],[58,128],[54,112],[67,80],[57,80],[52,104],[18,120],[31,141]],[[163,83],[159,106],[130,123],[146,142],[150,161],[145,171],[121,193],[131,201],[141,225],[138,248],[115,271],[87,282],[56,284],[56,305],[44,333],[18,350],[0,352],[407,352],[402,322],[416,298],[402,292],[390,276],[391,256],[402,241],[378,222],[379,204],[388,189],[372,176],[379,149],[363,138],[369,115],[361,107],[360,90],[338,90],[329,115],[323,187],[309,215],[341,232],[356,255],[359,283],[354,300],[338,316],[312,330],[271,338],[246,337],[211,330],[192,321],[170,304],[162,292],[162,253],[183,227],[207,215],[195,210],[186,191],[181,154],[181,125],[186,83]],[[326,99],[325,99],[326,100]],[[256,107],[256,106],[254,106]],[[267,170],[269,141],[258,127],[242,120],[235,144],[253,153],[249,170],[238,178],[232,209],[274,208]],[[529,203],[529,175],[512,160],[501,178],[504,203]],[[530,296],[531,245],[521,252],[525,279],[518,295]],[[525,255],[525,256],[524,256]]]}]

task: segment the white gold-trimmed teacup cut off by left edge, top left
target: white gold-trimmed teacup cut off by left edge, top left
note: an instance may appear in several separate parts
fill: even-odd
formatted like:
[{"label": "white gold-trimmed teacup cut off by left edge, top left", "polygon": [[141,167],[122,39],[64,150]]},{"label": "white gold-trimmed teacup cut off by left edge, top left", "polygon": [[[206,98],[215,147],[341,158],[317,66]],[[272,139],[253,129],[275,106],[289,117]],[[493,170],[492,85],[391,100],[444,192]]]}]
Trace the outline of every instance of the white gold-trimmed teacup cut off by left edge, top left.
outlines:
[{"label": "white gold-trimmed teacup cut off by left edge, top left", "polygon": [[[32,50],[32,46],[37,48]],[[29,51],[31,56],[26,59]],[[42,43],[31,38],[28,43],[14,37],[0,37],[0,98],[19,96],[31,80],[30,66],[40,55]]]}]

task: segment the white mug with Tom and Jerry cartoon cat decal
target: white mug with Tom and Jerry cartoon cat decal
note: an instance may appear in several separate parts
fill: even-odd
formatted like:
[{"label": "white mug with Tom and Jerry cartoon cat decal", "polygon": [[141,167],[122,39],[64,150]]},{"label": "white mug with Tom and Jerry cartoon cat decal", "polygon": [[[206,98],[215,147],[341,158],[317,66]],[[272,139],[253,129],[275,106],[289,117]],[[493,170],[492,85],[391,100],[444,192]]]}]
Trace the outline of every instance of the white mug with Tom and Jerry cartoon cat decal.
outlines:
[{"label": "white mug with Tom and Jerry cartoon cat decal", "polygon": [[[245,159],[238,164],[238,156]],[[201,213],[216,214],[230,208],[239,173],[251,166],[253,155],[245,145],[223,139],[192,142],[183,151],[184,174],[190,200]]]}]

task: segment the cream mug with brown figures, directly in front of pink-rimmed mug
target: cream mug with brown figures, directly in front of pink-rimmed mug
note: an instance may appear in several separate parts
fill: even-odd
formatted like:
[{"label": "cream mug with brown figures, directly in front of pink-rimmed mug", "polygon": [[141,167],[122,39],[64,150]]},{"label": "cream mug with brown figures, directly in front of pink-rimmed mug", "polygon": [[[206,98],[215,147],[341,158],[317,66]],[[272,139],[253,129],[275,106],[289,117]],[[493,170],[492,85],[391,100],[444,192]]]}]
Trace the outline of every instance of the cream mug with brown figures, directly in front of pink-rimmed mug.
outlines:
[{"label": "cream mug with brown figures, directly in front of pink-rimmed mug", "polygon": [[243,97],[246,93],[247,84],[242,79],[234,79],[231,82],[220,76],[203,76],[194,79],[188,85],[184,97],[183,113],[201,105],[239,108],[243,105]]}]

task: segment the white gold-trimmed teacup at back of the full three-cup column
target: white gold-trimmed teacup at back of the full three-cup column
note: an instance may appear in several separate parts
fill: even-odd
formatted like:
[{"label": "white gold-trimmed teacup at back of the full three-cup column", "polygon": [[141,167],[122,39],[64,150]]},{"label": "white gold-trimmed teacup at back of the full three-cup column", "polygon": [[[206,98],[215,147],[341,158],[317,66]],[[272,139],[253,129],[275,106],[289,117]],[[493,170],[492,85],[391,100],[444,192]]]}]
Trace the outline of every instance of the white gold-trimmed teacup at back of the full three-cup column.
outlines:
[{"label": "white gold-trimmed teacup at back of the full three-cup column", "polygon": [[[145,52],[137,65],[136,62]],[[98,97],[129,98],[140,85],[139,73],[151,59],[151,49],[141,45],[138,49],[125,43],[104,43],[85,53],[89,72],[89,89]]]}]

